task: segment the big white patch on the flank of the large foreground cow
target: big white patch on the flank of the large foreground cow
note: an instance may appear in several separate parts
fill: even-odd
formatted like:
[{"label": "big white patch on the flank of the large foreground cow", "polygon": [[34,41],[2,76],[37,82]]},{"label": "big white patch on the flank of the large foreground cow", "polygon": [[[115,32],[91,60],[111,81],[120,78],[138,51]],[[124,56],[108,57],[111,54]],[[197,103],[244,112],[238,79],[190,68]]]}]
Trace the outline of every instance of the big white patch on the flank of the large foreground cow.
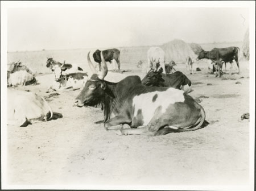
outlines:
[{"label": "big white patch on the flank of the large foreground cow", "polygon": [[[152,117],[154,116],[155,110],[161,106],[161,112],[166,112],[166,109],[171,104],[175,102],[183,102],[185,100],[183,96],[183,91],[169,88],[164,92],[149,92],[140,94],[139,96],[135,96],[133,98],[133,107],[134,107],[134,115],[137,116],[138,110],[142,110],[143,115],[143,125],[146,125],[150,122]],[[153,102],[153,97],[157,94],[157,98]]]}]

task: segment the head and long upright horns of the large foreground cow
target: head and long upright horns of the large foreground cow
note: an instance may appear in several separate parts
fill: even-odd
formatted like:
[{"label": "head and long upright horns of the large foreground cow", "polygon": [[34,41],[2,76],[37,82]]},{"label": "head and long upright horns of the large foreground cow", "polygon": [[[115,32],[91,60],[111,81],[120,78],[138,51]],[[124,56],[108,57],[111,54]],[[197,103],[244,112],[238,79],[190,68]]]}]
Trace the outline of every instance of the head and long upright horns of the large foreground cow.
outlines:
[{"label": "head and long upright horns of the large foreground cow", "polygon": [[87,60],[93,75],[90,77],[90,80],[86,81],[84,89],[82,89],[80,94],[76,97],[75,105],[79,107],[98,105],[98,103],[104,99],[105,93],[112,96],[111,93],[109,93],[106,82],[104,81],[104,77],[108,73],[108,67],[102,55],[102,51],[100,53],[102,60],[102,73],[100,74],[97,74],[96,68],[94,68],[92,62],[90,61],[89,53],[87,55]]}]

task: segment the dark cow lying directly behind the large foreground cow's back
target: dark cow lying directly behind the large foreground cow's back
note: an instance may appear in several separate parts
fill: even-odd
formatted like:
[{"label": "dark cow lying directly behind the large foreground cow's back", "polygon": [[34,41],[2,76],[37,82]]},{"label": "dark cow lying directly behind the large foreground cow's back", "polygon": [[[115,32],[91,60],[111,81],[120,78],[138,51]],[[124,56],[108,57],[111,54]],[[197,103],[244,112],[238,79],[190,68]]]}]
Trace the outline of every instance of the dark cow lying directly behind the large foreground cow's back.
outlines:
[{"label": "dark cow lying directly behind the large foreground cow's back", "polygon": [[151,69],[142,79],[146,86],[171,87],[183,90],[185,93],[192,91],[192,82],[182,72],[176,71],[172,74],[163,74],[163,69],[156,71]]}]

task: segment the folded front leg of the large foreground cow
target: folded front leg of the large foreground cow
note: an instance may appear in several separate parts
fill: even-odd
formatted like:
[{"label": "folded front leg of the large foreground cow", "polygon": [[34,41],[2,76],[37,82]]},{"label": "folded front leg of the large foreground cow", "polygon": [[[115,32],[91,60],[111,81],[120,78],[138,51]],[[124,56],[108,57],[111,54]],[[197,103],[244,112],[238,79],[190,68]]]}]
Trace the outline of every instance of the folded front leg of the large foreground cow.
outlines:
[{"label": "folded front leg of the large foreground cow", "polygon": [[127,123],[131,123],[131,119],[123,116],[115,116],[104,123],[106,130],[121,130],[123,128],[129,128]]}]

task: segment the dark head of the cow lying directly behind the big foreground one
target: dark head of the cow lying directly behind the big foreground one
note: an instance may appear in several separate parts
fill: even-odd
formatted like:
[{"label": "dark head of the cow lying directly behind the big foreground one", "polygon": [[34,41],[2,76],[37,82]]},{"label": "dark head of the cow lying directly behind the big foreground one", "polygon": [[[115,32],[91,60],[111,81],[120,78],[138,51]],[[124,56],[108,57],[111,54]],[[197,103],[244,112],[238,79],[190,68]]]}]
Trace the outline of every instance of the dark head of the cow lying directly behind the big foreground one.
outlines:
[{"label": "dark head of the cow lying directly behind the big foreground one", "polygon": [[142,79],[142,84],[146,86],[164,86],[164,79],[161,75],[162,72],[162,68],[160,68],[158,71],[150,69],[146,76]]}]

